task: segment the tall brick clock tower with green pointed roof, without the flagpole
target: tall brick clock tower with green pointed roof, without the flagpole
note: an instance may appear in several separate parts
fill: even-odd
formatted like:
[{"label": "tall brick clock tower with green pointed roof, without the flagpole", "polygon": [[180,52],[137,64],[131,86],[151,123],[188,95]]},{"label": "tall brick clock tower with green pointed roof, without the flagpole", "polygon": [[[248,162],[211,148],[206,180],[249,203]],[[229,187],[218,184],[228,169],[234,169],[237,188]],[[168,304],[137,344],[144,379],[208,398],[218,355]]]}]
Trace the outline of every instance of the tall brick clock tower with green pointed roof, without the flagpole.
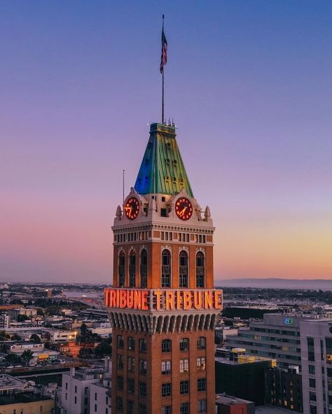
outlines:
[{"label": "tall brick clock tower with green pointed roof, without the flagpole", "polygon": [[151,124],[112,229],[112,412],[214,413],[214,227],[193,196],[174,125]]}]

